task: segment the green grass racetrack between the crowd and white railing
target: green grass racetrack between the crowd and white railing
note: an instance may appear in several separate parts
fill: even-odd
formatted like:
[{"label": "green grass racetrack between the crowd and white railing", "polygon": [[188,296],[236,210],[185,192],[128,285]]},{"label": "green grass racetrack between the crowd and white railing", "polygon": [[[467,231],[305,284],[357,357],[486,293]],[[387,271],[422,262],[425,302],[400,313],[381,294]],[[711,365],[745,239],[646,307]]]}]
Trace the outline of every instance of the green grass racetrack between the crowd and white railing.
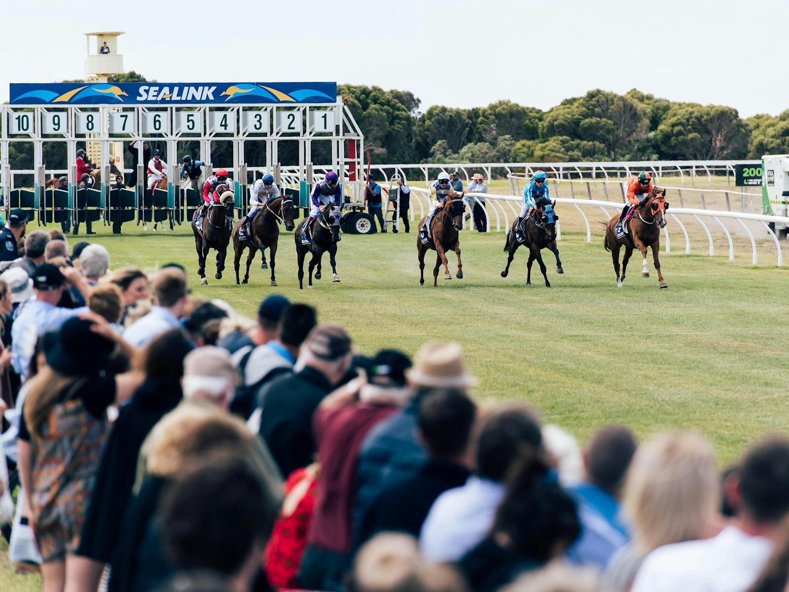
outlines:
[{"label": "green grass racetrack between the crowd and white railing", "polygon": [[[301,291],[294,239],[284,231],[276,288],[269,286],[269,270],[260,269],[260,257],[250,270],[249,285],[237,286],[232,250],[221,280],[214,279],[211,252],[209,285],[201,287],[188,226],[144,233],[128,223],[122,236],[113,236],[97,223],[99,234],[90,238],[107,246],[113,268],[136,264],[152,272],[169,261],[183,264],[193,294],[223,298],[249,317],[272,290],[315,305],[321,321],[344,324],[366,354],[396,347],[413,355],[428,340],[458,341],[480,379],[476,394],[481,399],[532,404],[545,422],[563,426],[581,442],[613,422],[632,426],[641,437],[661,429],[697,429],[712,440],[718,462],[725,466],[763,434],[785,431],[789,271],[774,267],[774,253],[760,247],[763,266],[753,267],[743,242],[731,262],[688,256],[675,246],[682,254],[660,253],[669,287],[659,290],[651,256],[652,276],[644,279],[637,252],[624,287],[617,289],[600,228],[593,227],[593,241],[587,244],[579,219],[569,210],[559,206],[564,275],[555,273],[552,254],[544,251],[550,289],[537,264],[532,285],[525,286],[528,255],[523,249],[516,253],[509,277],[500,277],[506,262],[503,233],[464,231],[464,278],[443,280],[439,272],[438,288],[432,287],[433,252],[425,286],[419,286],[413,231],[346,234],[337,257],[342,282],[331,283],[324,256],[323,279],[313,290]],[[28,230],[33,228],[35,224]],[[671,222],[669,229],[677,231]],[[70,243],[76,241],[69,235]],[[694,242],[692,253],[704,253],[705,245]],[[454,253],[449,259],[454,277]],[[0,553],[3,581],[9,567],[7,554]],[[38,582],[30,576],[7,581],[9,590],[33,590]]]}]

